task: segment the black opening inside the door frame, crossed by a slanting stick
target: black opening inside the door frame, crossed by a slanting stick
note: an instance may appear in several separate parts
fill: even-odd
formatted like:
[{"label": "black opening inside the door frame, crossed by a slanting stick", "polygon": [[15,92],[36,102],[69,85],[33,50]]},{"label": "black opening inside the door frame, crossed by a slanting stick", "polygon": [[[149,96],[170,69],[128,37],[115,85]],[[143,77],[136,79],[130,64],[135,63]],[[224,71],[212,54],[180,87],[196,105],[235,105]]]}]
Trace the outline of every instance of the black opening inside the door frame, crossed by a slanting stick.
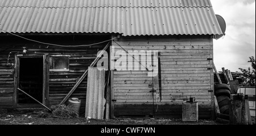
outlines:
[{"label": "black opening inside the door frame, crossed by a slanting stick", "polygon": [[[20,58],[18,87],[43,103],[43,57]],[[35,104],[36,101],[18,91],[18,104]]]}]

